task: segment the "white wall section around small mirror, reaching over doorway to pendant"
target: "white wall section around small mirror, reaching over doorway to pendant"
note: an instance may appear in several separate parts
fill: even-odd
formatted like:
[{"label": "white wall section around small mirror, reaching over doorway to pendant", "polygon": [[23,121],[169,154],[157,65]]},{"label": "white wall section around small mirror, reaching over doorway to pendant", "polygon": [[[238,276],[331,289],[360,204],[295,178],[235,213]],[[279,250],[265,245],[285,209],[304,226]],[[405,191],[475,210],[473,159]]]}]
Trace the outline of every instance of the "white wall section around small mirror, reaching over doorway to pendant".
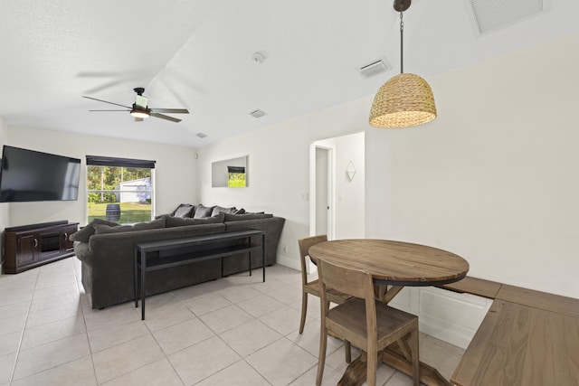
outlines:
[{"label": "white wall section around small mirror, reaching over doorway to pendant", "polygon": [[[366,109],[367,101],[358,100],[200,149],[201,201],[284,217],[278,262],[299,268],[298,239],[309,235],[309,202],[304,197],[309,194],[310,146],[363,130]],[[242,155],[249,155],[249,187],[211,188],[211,163]]]}]

